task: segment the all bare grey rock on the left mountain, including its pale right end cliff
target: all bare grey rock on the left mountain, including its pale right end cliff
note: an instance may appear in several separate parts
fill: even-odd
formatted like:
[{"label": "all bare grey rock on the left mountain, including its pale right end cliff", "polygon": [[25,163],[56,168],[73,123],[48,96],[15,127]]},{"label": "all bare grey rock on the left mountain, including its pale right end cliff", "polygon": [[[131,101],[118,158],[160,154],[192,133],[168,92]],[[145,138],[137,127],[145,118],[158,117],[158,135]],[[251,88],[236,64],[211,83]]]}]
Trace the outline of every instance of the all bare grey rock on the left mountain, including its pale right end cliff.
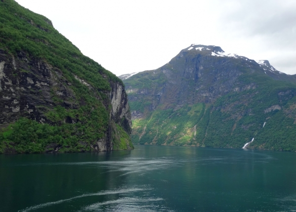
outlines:
[{"label": "all bare grey rock on the left mountain, including its pale right end cliff", "polygon": [[[74,77],[90,90],[94,89],[84,79],[75,75]],[[110,85],[111,90],[107,94],[109,99],[103,101],[107,111],[110,111],[109,127],[105,138],[98,140],[93,146],[94,151],[113,149],[112,132],[116,131],[115,123],[131,135],[131,113],[125,89],[119,82],[110,81]],[[60,106],[79,108],[71,83],[66,80],[62,71],[24,53],[19,53],[18,57],[14,58],[0,51],[0,129],[20,117],[53,124],[45,114],[57,106],[57,102],[53,100],[55,96],[62,100],[62,103],[59,102]],[[66,117],[64,122],[74,124],[79,120]],[[61,147],[52,143],[47,148],[58,151]]]}]

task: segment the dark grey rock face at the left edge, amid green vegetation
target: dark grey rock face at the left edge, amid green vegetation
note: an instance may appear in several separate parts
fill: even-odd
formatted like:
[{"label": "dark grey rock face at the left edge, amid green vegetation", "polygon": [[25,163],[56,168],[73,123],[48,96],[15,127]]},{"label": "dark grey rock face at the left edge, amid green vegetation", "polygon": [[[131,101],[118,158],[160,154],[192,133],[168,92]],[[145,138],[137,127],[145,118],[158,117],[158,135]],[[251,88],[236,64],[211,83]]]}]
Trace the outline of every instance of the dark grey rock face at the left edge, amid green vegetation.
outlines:
[{"label": "dark grey rock face at the left edge, amid green vegetation", "polygon": [[51,88],[65,102],[65,107],[75,107],[70,99],[75,98],[67,86],[61,71],[53,69],[40,60],[19,54],[18,58],[0,53],[0,124],[11,123],[20,117],[28,117],[40,123],[49,122],[44,116],[44,106],[55,106]]}]

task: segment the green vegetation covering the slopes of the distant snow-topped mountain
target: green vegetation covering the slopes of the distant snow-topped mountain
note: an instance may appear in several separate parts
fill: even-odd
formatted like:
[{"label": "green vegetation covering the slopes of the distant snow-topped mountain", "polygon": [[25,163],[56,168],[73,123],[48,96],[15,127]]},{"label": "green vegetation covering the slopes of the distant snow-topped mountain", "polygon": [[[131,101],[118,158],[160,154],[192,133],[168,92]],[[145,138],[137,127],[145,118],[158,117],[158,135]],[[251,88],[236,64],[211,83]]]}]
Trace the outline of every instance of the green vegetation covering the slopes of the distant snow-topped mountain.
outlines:
[{"label": "green vegetation covering the slopes of the distant snow-topped mountain", "polygon": [[[155,73],[145,71],[124,80],[131,110],[143,113],[143,117],[133,120],[132,141],[141,144],[242,148],[255,138],[249,148],[296,151],[296,84],[274,80],[262,71],[250,71],[248,66],[239,64],[236,69],[243,74],[232,83],[232,90],[226,95],[217,96],[213,103],[177,106],[174,101],[186,102],[200,92],[194,91],[197,85],[192,86],[194,81],[188,79],[188,89],[193,91],[191,96],[186,96],[185,89],[181,93],[180,85],[174,87],[172,83],[155,110],[151,109],[151,104],[159,96],[151,94],[165,87],[151,76],[153,72],[160,77],[159,80],[165,81],[159,69]],[[207,74],[211,76],[213,72]],[[221,79],[220,83],[223,85],[227,80]],[[142,94],[145,91],[143,88],[149,86],[147,94]],[[178,92],[181,93],[179,97]],[[278,107],[280,109],[275,109]]]}]

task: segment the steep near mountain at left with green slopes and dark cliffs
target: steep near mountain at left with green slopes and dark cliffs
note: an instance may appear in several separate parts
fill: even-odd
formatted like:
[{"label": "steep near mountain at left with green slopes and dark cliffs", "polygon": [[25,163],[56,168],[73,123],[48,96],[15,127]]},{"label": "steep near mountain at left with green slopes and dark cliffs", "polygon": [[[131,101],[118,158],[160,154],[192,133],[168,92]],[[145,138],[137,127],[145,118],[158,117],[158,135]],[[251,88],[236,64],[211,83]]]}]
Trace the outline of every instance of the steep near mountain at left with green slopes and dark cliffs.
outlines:
[{"label": "steep near mountain at left with green slopes and dark cliffs", "polygon": [[0,1],[0,152],[133,148],[122,81],[50,20]]}]

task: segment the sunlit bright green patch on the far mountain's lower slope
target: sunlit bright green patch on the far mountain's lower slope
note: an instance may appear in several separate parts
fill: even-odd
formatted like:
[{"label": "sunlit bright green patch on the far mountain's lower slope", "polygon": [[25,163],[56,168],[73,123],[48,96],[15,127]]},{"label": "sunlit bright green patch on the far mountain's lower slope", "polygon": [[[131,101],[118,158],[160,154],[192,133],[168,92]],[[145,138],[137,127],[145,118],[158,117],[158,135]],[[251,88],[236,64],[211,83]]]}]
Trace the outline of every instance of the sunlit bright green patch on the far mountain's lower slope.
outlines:
[{"label": "sunlit bright green patch on the far mountain's lower slope", "polygon": [[149,119],[133,121],[132,140],[141,144],[196,145],[196,129],[204,111],[204,104],[186,106],[175,111],[157,109]]}]

